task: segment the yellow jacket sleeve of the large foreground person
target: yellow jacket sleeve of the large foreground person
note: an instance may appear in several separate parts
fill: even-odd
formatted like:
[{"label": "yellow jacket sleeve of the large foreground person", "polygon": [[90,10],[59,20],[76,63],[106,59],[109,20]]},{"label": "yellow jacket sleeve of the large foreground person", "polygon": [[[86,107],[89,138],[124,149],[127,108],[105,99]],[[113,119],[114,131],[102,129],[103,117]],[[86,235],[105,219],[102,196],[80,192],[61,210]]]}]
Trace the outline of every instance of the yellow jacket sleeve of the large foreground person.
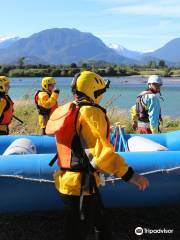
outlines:
[{"label": "yellow jacket sleeve of the large foreground person", "polygon": [[86,154],[96,168],[114,173],[128,181],[133,170],[124,158],[115,153],[107,140],[107,121],[102,110],[94,107],[82,107],[79,116],[79,129],[85,144]]}]

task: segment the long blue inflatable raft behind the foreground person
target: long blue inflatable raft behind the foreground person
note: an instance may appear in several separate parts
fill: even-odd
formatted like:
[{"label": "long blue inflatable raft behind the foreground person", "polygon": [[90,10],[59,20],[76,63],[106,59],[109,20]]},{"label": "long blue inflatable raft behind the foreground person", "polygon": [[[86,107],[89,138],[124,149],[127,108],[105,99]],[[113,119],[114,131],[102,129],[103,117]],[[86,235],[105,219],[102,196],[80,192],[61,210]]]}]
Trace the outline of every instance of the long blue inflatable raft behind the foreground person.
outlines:
[{"label": "long blue inflatable raft behind the foreground person", "polygon": [[[145,191],[107,175],[100,187],[106,207],[154,206],[180,203],[180,131],[141,135],[167,147],[167,151],[130,152],[128,140],[135,134],[112,132],[116,151],[135,171],[146,175],[150,187]],[[0,155],[0,212],[47,211],[62,209],[52,175],[58,169],[48,163],[56,153],[51,136],[0,136],[0,154],[16,139],[30,139],[37,154]],[[107,159],[108,161],[108,159]]]}]

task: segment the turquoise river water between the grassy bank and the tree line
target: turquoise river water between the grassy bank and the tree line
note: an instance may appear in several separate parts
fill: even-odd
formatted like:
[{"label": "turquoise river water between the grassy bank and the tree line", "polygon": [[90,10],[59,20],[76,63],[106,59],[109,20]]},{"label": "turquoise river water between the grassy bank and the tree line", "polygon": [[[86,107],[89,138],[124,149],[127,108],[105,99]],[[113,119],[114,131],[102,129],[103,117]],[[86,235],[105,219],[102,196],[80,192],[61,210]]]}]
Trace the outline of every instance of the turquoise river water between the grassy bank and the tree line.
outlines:
[{"label": "turquoise river water between the grassy bank and the tree line", "polygon": [[[57,88],[60,89],[59,103],[63,100],[72,99],[71,95],[71,77],[57,77]],[[134,104],[139,92],[145,90],[147,78],[145,77],[108,77],[111,81],[110,88],[104,94],[102,105],[110,98],[113,103],[110,107],[119,107],[120,109],[129,110]],[[161,100],[162,115],[171,117],[180,116],[180,78],[164,78],[162,95],[164,102]],[[41,89],[41,78],[11,78],[11,88],[9,91],[13,100],[30,98],[33,99],[36,90]]]}]

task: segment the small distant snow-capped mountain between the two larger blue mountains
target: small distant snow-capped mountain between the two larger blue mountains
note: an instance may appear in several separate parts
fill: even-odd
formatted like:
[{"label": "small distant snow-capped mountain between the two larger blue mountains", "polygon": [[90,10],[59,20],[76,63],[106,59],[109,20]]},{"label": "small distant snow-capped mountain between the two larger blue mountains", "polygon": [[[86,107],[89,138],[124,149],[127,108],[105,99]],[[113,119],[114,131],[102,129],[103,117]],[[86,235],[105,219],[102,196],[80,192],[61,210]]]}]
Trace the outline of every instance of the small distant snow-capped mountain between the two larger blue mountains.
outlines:
[{"label": "small distant snow-capped mountain between the two larger blue mountains", "polygon": [[111,43],[109,45],[109,47],[112,48],[119,55],[127,57],[127,58],[132,58],[132,59],[135,59],[135,60],[138,60],[139,57],[142,55],[141,52],[129,50],[129,49],[123,47],[120,44]]}]

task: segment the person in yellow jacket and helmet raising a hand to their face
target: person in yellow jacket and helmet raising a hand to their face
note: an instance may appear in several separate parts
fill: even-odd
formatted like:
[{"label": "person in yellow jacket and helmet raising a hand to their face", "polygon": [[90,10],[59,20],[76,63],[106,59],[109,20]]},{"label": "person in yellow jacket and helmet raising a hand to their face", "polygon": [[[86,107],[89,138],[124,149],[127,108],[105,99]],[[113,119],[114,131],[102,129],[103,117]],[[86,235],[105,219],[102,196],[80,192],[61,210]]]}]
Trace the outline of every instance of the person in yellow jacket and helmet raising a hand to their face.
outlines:
[{"label": "person in yellow jacket and helmet raising a hand to their face", "polygon": [[35,103],[39,113],[39,126],[45,135],[47,121],[57,108],[59,89],[55,89],[56,81],[53,77],[44,77],[41,82],[42,90],[35,93]]}]

